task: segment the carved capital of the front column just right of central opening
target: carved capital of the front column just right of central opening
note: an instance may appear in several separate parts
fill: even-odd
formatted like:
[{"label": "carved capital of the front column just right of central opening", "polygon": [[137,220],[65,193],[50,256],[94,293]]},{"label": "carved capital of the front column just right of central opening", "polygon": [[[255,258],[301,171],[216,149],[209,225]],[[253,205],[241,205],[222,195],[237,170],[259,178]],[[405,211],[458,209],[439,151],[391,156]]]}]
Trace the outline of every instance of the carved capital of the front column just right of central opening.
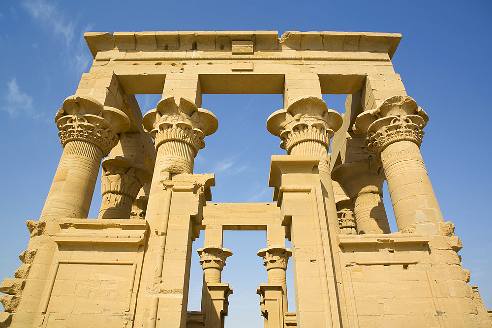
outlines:
[{"label": "carved capital of the front column just right of central opening", "polygon": [[340,128],[340,114],[314,96],[295,99],[288,108],[270,115],[267,129],[280,137],[280,148],[287,154],[321,154],[330,148],[330,139]]}]

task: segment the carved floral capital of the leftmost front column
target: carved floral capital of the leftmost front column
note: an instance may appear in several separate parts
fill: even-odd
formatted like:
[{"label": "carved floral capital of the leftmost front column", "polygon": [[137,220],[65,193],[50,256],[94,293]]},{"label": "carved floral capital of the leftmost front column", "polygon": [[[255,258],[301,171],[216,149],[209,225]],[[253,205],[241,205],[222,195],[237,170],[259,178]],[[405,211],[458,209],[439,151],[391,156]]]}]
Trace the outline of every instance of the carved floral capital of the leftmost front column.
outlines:
[{"label": "carved floral capital of the leftmost front column", "polygon": [[118,143],[118,133],[130,126],[119,109],[103,106],[87,96],[70,96],[63,101],[55,121],[63,148],[69,141],[80,140],[97,146],[103,156]]}]

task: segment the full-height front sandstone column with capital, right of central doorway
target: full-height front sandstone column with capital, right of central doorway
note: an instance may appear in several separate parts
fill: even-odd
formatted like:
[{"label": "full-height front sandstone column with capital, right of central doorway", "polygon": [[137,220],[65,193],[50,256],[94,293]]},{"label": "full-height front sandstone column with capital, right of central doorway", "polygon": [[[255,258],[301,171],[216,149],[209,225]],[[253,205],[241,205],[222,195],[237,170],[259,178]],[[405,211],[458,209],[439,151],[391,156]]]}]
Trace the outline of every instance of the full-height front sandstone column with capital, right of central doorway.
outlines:
[{"label": "full-height front sandstone column with capital, right of central doorway", "polygon": [[[292,160],[295,158],[301,166],[314,158],[318,163],[316,171],[312,174],[319,174],[319,176],[301,175],[302,177],[296,179],[297,182],[286,180],[287,183],[284,183],[282,177],[280,186],[284,194],[298,193],[297,198],[303,198],[300,202],[307,206],[305,213],[312,211],[312,215],[306,220],[301,214],[302,211],[296,208],[294,210],[296,214],[292,215],[290,224],[297,320],[312,323],[314,325],[312,327],[339,325],[334,255],[330,245],[334,242],[330,239],[335,238],[339,227],[327,153],[330,139],[340,128],[341,123],[341,116],[336,111],[328,109],[326,103],[319,97],[309,95],[292,100],[286,109],[278,110],[267,120],[268,131],[280,137],[282,140],[280,148],[285,149],[287,154],[292,156],[289,156]],[[285,161],[286,173],[294,174],[296,172],[294,162],[287,164],[289,161],[287,158]],[[301,181],[302,187],[290,186]],[[287,204],[287,201],[284,201],[283,204],[281,209],[282,206],[286,209],[295,208],[294,203]],[[315,260],[308,258],[307,249],[315,250]],[[305,265],[309,261],[314,265]]]}]

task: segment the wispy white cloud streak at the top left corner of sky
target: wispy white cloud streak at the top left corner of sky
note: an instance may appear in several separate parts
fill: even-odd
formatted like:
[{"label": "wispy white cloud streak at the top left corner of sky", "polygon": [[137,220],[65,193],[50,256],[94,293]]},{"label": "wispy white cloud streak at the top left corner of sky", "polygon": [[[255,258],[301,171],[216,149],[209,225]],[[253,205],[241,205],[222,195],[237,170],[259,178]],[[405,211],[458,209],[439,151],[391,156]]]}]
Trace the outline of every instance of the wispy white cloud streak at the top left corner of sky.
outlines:
[{"label": "wispy white cloud streak at the top left corner of sky", "polygon": [[74,37],[75,24],[57,7],[56,2],[45,0],[28,0],[21,3],[21,7],[27,10],[32,18],[37,20],[61,36],[67,46],[70,45]]}]

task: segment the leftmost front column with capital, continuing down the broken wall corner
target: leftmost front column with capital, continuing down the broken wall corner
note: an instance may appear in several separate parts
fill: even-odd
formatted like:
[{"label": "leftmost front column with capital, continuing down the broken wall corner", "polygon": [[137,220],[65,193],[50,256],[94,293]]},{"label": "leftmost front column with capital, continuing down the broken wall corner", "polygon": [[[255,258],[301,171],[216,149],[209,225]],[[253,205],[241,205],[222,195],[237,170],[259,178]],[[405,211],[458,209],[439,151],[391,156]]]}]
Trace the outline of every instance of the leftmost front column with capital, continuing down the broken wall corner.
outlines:
[{"label": "leftmost front column with capital, continuing down the broken wall corner", "polygon": [[39,222],[32,222],[33,233],[28,249],[16,271],[26,279],[13,320],[17,327],[41,323],[41,299],[46,297],[49,272],[63,218],[87,218],[101,159],[118,143],[118,134],[129,127],[129,119],[120,110],[103,106],[89,96],[70,96],[56,115],[63,147]]}]

